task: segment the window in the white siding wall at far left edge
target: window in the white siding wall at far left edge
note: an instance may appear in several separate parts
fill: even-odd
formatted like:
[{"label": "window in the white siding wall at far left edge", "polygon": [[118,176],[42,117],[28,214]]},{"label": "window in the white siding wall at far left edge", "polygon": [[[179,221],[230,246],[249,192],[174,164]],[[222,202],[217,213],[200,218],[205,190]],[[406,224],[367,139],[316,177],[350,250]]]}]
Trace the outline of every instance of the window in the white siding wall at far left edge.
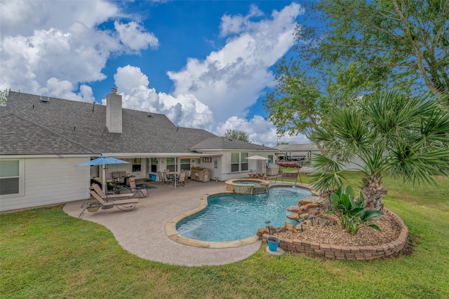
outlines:
[{"label": "window in the white siding wall at far left edge", "polygon": [[0,195],[20,193],[20,161],[0,161]]}]

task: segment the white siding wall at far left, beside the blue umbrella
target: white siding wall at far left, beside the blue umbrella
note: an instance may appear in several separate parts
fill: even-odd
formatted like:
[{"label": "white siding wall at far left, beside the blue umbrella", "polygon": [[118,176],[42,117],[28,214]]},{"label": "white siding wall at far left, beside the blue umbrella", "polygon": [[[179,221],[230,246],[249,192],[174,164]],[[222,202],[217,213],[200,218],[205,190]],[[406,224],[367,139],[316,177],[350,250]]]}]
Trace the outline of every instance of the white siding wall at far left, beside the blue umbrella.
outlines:
[{"label": "white siding wall at far left, beside the blue umbrella", "polygon": [[0,211],[39,207],[88,198],[88,166],[75,165],[89,158],[24,158],[23,196],[0,197]]}]

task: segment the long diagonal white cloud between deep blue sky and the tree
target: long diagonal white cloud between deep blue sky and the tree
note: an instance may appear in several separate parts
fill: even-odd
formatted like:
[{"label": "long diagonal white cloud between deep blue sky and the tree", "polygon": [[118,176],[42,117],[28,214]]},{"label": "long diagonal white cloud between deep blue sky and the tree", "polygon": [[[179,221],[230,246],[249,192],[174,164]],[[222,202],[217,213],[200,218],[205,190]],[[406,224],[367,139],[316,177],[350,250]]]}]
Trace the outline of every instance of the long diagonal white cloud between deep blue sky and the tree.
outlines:
[{"label": "long diagonal white cloud between deep blue sky and the tree", "polygon": [[301,6],[293,3],[259,22],[251,21],[261,15],[255,6],[247,16],[225,15],[222,34],[238,35],[205,60],[191,58],[181,71],[169,71],[175,85],[173,94],[194,95],[213,111],[218,123],[232,115],[243,118],[264,88],[273,84],[269,67],[293,46],[295,20],[302,12]]}]

